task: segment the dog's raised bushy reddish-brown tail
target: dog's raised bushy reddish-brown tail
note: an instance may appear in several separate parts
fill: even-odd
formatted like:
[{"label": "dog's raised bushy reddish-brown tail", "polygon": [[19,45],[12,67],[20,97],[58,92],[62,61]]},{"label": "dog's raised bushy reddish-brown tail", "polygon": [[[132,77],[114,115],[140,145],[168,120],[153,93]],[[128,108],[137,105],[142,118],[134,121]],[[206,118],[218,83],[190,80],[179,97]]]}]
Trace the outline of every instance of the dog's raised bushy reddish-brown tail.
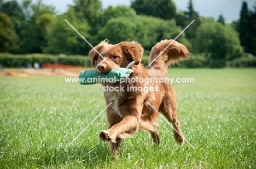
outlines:
[{"label": "dog's raised bushy reddish-brown tail", "polygon": [[150,68],[164,71],[168,65],[174,64],[177,61],[182,61],[183,59],[188,59],[190,54],[191,53],[188,51],[187,47],[177,41],[173,41],[172,39],[161,40],[152,47],[148,63],[150,64],[153,61],[150,64]]}]

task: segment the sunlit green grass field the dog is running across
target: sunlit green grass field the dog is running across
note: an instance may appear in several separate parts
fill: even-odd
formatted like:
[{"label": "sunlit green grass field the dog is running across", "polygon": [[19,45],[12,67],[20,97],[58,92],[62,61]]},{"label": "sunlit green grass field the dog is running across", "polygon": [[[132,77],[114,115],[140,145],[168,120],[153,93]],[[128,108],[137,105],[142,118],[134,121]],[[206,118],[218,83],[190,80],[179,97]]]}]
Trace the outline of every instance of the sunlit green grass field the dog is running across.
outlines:
[{"label": "sunlit green grass field the dog is running across", "polygon": [[181,129],[159,117],[160,146],[139,131],[112,160],[106,113],[73,140],[106,106],[100,85],[65,83],[64,77],[0,77],[0,168],[256,168],[256,69],[169,69]]}]

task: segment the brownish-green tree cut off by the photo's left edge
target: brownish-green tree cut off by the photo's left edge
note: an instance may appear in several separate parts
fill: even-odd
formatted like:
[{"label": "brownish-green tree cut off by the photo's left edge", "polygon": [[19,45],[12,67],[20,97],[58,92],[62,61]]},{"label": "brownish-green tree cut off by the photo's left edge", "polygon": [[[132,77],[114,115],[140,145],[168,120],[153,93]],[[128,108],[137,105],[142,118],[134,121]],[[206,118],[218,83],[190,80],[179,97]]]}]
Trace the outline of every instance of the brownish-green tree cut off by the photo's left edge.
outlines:
[{"label": "brownish-green tree cut off by the photo's left edge", "polygon": [[0,52],[8,52],[15,45],[17,35],[7,14],[0,13]]}]

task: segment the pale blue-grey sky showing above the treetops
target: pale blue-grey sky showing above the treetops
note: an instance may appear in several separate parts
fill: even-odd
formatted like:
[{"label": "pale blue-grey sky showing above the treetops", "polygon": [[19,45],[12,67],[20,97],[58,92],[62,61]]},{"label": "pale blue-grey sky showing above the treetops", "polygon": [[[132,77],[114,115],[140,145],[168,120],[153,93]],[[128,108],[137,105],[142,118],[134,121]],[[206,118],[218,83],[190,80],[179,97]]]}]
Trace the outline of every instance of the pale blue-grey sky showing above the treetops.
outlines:
[{"label": "pale blue-grey sky showing above the treetops", "polygon": [[[67,10],[67,5],[72,4],[73,0],[42,0],[45,4],[53,5],[59,13],[63,13]],[[189,0],[173,0],[176,3],[177,9],[187,10]],[[199,12],[200,16],[212,16],[215,19],[220,14],[224,15],[225,21],[231,23],[234,20],[239,19],[240,10],[243,0],[193,0],[194,8]],[[256,6],[255,0],[246,0],[249,9],[253,9]],[[22,0],[18,0],[22,2]],[[37,0],[32,0],[33,3]],[[131,0],[101,0],[102,7],[107,8],[109,5],[130,5]]]}]

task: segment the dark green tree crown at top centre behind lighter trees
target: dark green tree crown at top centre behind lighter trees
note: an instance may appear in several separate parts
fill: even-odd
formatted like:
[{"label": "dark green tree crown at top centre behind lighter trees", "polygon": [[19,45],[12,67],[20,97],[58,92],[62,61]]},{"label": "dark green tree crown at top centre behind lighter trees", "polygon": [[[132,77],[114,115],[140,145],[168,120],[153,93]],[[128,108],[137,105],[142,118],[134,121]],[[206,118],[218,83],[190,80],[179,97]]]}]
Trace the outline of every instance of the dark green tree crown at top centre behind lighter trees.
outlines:
[{"label": "dark green tree crown at top centre behind lighter trees", "polygon": [[175,17],[176,5],[172,0],[135,0],[131,2],[131,8],[138,15],[150,15],[170,20]]}]

